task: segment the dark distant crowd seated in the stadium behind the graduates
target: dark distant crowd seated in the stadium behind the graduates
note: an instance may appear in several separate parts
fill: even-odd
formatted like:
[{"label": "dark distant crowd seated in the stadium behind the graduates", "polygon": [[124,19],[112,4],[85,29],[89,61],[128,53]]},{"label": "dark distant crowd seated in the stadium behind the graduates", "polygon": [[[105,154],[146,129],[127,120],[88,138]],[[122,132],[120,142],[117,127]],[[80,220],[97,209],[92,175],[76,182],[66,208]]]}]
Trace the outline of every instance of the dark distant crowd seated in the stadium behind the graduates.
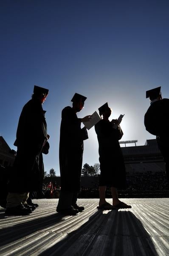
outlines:
[{"label": "dark distant crowd seated in the stadium behind the graduates", "polygon": [[[59,198],[60,185],[56,182],[43,184],[44,198]],[[165,174],[127,175],[127,189],[119,189],[121,198],[169,196],[169,187]],[[99,183],[91,187],[81,187],[78,198],[99,198]],[[111,198],[110,188],[107,188],[106,198]]]}]

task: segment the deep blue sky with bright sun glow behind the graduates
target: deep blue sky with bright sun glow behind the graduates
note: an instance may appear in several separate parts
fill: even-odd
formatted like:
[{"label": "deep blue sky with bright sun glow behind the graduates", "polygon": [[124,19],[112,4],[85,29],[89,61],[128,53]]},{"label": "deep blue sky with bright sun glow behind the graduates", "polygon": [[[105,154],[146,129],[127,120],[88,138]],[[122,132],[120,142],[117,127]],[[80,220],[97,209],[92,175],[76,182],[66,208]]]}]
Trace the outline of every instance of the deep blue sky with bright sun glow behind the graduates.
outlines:
[{"label": "deep blue sky with bright sun glow behind the graduates", "polygon": [[[122,140],[144,145],[155,138],[144,128],[145,92],[161,86],[169,98],[168,14],[167,0],[1,0],[0,135],[16,150],[20,112],[36,84],[50,90],[43,105],[51,135],[47,172],[59,175],[61,111],[75,92],[87,97],[79,117],[108,102],[111,118],[125,114]],[[94,128],[88,135],[83,164],[93,165]]]}]

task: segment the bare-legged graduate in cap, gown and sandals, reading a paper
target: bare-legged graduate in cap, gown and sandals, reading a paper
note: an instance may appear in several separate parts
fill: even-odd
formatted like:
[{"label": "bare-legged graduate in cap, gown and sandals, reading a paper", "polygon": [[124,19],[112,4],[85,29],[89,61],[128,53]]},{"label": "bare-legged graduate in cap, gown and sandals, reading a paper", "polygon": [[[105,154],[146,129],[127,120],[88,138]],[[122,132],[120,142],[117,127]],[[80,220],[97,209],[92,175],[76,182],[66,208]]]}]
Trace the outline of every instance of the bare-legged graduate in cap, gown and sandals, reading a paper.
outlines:
[{"label": "bare-legged graduate in cap, gown and sandals, reading a paper", "polygon": [[[124,159],[118,140],[121,139],[123,132],[120,125],[113,128],[118,121],[113,119],[109,121],[111,109],[105,103],[99,108],[100,116],[103,116],[96,125],[95,131],[99,142],[99,207],[98,209],[116,209],[116,208],[131,208],[131,206],[121,202],[118,199],[117,188],[126,188],[126,171]],[[105,200],[105,189],[111,187],[113,205]]]}]

